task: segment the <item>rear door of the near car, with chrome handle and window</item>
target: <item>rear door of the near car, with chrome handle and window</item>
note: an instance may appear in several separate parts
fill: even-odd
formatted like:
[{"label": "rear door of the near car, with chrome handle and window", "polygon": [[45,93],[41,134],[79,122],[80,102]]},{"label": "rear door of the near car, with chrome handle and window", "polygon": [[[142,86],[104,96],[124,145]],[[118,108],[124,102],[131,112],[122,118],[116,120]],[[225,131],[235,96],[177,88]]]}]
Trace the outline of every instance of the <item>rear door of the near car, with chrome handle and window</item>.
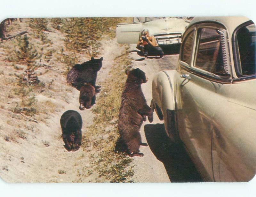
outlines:
[{"label": "rear door of the near car, with chrome handle and window", "polygon": [[223,64],[220,29],[224,27],[205,23],[196,25],[195,28],[189,63],[182,56],[184,43],[181,48],[183,51],[180,52],[181,76],[177,76],[177,96],[180,102],[177,102],[177,121],[180,139],[198,170],[206,180],[214,181],[212,117],[219,105],[218,91],[223,86],[223,81],[229,83],[230,75],[226,73]]}]

